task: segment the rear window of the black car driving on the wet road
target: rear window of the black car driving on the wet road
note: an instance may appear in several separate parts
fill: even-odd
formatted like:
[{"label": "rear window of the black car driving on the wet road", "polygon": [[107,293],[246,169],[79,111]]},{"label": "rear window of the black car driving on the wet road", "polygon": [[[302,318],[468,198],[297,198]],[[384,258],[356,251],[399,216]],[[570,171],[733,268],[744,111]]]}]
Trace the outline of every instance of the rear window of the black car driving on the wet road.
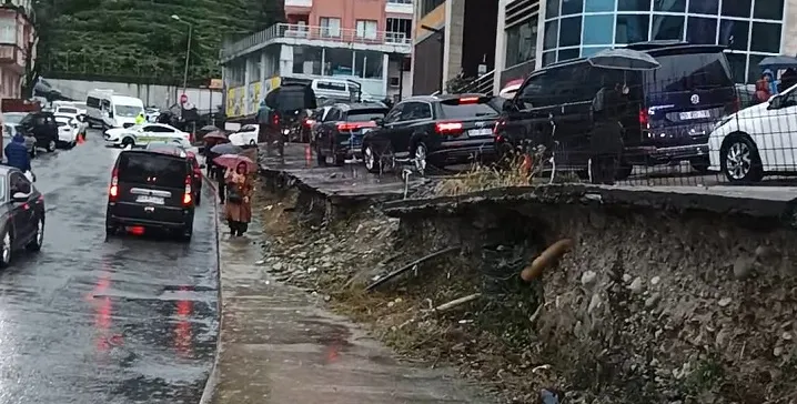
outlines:
[{"label": "rear window of the black car driving on the wet road", "polygon": [[148,152],[123,152],[119,156],[121,182],[183,188],[186,174],[185,160],[176,156]]}]

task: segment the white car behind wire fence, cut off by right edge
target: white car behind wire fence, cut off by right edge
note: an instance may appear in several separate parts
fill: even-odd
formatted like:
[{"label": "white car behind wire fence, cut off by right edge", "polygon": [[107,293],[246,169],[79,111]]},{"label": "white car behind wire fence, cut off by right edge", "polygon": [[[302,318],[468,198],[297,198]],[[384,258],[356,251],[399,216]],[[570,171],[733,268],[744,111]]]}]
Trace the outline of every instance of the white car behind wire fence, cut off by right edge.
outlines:
[{"label": "white car behind wire fence, cut off by right edge", "polygon": [[797,85],[719,121],[708,139],[710,170],[730,182],[758,182],[767,173],[797,172]]}]

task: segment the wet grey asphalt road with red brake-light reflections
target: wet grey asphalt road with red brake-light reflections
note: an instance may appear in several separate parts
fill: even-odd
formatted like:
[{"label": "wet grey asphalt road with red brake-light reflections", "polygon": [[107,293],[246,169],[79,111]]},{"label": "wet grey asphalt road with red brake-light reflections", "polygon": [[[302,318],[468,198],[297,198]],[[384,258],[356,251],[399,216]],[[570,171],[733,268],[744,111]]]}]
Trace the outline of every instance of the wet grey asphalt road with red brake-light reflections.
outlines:
[{"label": "wet grey asphalt road with red brake-light reflections", "polygon": [[218,334],[213,199],[204,186],[190,244],[105,242],[119,151],[88,138],[33,161],[44,244],[0,272],[0,404],[198,403]]}]

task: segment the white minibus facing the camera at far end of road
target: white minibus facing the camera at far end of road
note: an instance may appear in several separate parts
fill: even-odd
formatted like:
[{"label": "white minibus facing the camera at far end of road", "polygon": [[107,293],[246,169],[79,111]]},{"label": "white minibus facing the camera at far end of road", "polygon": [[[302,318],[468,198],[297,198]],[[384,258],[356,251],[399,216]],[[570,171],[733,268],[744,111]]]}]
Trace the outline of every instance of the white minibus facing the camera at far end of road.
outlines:
[{"label": "white minibus facing the camera at far end of road", "polygon": [[111,90],[94,90],[85,99],[90,125],[101,128],[130,128],[135,117],[144,112],[144,102],[138,98],[115,95]]}]

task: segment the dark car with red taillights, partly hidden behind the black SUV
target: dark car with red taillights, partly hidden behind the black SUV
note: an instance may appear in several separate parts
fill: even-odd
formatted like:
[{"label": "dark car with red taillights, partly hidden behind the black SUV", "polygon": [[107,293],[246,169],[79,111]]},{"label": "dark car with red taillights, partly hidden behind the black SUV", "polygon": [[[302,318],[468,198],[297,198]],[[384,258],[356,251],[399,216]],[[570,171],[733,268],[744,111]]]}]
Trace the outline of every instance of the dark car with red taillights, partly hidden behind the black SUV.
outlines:
[{"label": "dark car with red taillights, partly hidden behind the black SUV", "polygon": [[319,165],[331,156],[335,165],[346,159],[360,158],[363,137],[382,121],[387,107],[381,102],[339,103],[330,108],[316,128],[315,154]]}]

